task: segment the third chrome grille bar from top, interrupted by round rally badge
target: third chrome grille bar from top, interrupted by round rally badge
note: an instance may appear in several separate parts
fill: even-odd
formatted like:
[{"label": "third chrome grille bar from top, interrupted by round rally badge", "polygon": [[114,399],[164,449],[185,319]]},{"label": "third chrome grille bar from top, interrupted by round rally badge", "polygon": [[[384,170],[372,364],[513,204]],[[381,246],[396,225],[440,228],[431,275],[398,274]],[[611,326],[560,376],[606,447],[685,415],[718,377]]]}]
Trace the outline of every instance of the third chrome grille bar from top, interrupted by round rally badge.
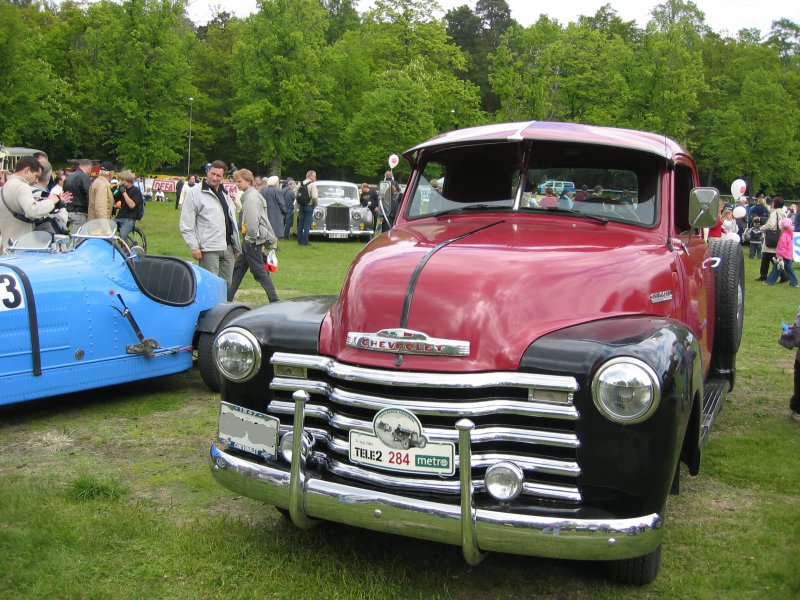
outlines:
[{"label": "third chrome grille bar from top, interrupted by round rally badge", "polygon": [[[397,406],[405,408],[404,404],[398,404]],[[273,400],[269,403],[267,410],[275,414],[293,415],[294,405],[291,402]],[[306,404],[306,417],[323,419],[333,427],[345,432],[351,429],[366,432],[372,431],[371,421],[345,417],[334,413],[326,406],[317,404]],[[425,434],[437,441],[455,442],[458,440],[458,433],[449,428],[425,427]],[[519,442],[523,444],[555,446],[558,448],[580,447],[578,436],[574,433],[514,429],[513,427],[478,427],[472,433],[472,441],[476,444],[481,442]]]}]

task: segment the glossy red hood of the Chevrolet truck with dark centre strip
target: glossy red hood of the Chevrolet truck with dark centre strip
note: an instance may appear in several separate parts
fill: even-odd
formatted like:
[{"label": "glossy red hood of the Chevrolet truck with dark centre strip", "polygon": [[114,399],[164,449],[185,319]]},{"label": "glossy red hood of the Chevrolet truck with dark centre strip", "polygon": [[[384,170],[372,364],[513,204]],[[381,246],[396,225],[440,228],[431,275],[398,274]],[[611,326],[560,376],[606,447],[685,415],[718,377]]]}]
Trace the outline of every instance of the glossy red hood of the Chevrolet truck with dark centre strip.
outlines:
[{"label": "glossy red hood of the Chevrolet truck with dark centre strip", "polygon": [[[525,349],[554,330],[672,309],[650,298],[673,290],[671,253],[653,232],[538,215],[444,225],[406,223],[356,258],[323,322],[322,354],[387,369],[516,370]],[[468,342],[469,354],[406,354],[398,367],[396,354],[347,346],[348,334],[397,328]]]}]

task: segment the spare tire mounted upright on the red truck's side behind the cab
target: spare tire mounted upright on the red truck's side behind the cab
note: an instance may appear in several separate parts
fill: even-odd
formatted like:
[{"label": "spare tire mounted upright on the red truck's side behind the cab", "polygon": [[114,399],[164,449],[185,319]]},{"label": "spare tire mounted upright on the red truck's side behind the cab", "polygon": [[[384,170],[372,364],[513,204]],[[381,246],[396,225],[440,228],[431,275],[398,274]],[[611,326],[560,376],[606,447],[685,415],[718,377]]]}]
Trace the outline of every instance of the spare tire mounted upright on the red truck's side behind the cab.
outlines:
[{"label": "spare tire mounted upright on the red truck's side behind the cab", "polygon": [[714,269],[714,355],[732,356],[739,350],[744,325],[744,256],[732,240],[709,240],[713,256],[722,259]]}]

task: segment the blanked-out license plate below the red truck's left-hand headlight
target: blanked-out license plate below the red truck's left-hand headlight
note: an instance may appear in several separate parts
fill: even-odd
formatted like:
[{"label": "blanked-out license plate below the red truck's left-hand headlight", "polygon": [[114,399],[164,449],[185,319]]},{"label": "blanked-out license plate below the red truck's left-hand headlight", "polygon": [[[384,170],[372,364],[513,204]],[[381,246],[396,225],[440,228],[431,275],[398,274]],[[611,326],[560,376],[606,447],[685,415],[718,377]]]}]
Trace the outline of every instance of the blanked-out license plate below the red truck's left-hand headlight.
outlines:
[{"label": "blanked-out license plate below the red truck's left-hand headlight", "polygon": [[219,411],[219,440],[237,450],[262,458],[277,454],[280,421],[249,408],[222,402]]}]

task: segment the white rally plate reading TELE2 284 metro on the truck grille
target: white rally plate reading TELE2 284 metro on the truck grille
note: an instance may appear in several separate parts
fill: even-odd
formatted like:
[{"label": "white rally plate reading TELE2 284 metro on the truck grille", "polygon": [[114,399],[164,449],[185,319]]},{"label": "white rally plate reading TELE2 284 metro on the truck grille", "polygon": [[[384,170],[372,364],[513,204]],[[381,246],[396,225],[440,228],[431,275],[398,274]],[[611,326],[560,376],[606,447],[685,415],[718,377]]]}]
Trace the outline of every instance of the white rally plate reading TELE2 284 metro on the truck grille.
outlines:
[{"label": "white rally plate reading TELE2 284 metro on the truck grille", "polygon": [[401,473],[455,473],[455,445],[428,442],[423,448],[390,448],[378,436],[350,431],[350,460],[387,471]]}]

